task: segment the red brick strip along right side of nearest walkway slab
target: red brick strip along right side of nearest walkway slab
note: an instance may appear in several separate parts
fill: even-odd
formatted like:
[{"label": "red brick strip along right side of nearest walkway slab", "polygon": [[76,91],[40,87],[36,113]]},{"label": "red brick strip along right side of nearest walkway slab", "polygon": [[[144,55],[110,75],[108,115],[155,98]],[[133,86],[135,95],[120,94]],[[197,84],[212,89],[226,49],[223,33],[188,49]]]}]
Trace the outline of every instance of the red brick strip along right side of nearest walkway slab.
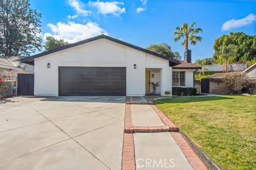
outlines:
[{"label": "red brick strip along right side of nearest walkway slab", "polygon": [[187,158],[193,170],[208,170],[205,164],[202,162],[202,160],[192,150],[192,147],[190,147],[188,142],[183,138],[183,136],[179,132],[171,132],[171,136],[174,138],[180,150]]}]

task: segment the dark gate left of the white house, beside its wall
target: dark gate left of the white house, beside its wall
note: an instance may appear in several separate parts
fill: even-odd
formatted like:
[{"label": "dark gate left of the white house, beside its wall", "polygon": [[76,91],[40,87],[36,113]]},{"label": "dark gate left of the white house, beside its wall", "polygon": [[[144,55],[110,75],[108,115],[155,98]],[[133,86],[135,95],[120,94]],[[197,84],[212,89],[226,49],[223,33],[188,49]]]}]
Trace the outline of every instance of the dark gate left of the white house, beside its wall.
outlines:
[{"label": "dark gate left of the white house, beside its wall", "polygon": [[18,74],[17,95],[34,95],[34,74]]}]

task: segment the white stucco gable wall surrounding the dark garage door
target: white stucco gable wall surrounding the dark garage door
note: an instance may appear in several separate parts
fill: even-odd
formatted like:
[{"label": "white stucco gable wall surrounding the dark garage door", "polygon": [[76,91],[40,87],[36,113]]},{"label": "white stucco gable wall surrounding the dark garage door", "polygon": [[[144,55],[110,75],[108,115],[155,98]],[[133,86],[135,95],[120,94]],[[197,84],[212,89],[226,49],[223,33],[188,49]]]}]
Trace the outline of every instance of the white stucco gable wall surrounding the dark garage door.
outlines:
[{"label": "white stucco gable wall surrounding the dark garage door", "polygon": [[[50,63],[50,68],[47,68]],[[133,65],[137,68],[134,69]],[[127,46],[99,39],[63,51],[35,58],[35,95],[58,96],[59,67],[126,67],[127,95],[145,95],[145,69],[161,68],[163,90],[171,90],[169,61]],[[163,89],[163,90],[162,90]]]}]

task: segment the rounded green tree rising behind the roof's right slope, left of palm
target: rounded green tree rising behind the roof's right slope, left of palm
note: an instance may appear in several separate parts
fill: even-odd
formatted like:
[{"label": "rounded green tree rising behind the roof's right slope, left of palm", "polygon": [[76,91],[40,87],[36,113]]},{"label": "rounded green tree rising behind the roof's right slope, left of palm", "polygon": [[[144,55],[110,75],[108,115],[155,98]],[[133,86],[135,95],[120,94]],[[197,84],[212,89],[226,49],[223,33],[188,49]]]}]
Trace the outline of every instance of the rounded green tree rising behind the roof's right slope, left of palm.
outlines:
[{"label": "rounded green tree rising behind the roof's right slope, left of palm", "polygon": [[171,58],[180,59],[181,56],[178,51],[172,52],[171,46],[167,43],[161,43],[161,44],[152,44],[150,45],[147,50],[153,51]]}]

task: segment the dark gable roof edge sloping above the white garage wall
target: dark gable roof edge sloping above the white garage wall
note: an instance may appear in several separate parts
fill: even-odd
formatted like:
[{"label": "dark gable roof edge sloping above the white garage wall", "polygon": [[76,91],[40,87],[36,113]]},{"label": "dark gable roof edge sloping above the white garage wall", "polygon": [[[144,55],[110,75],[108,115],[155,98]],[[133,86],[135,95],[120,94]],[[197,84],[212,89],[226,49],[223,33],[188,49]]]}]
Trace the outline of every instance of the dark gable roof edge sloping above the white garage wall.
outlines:
[{"label": "dark gable roof edge sloping above the white garage wall", "polygon": [[125,45],[125,46],[128,46],[128,47],[136,49],[138,51],[143,51],[143,52],[149,53],[151,55],[154,55],[156,57],[168,60],[170,62],[171,66],[180,64],[180,62],[178,60],[172,59],[172,58],[170,58],[168,56],[161,55],[159,53],[156,53],[156,52],[153,52],[153,51],[149,51],[147,49],[143,49],[141,47],[129,44],[127,42],[121,41],[121,40],[116,39],[116,38],[112,38],[112,37],[104,35],[104,34],[101,34],[101,35],[98,35],[98,36],[95,36],[95,37],[92,37],[92,38],[88,38],[88,39],[85,39],[85,40],[82,40],[82,41],[79,41],[79,42],[76,42],[76,43],[73,43],[73,44],[68,44],[66,46],[63,46],[63,47],[60,47],[60,48],[57,48],[57,49],[54,49],[54,50],[51,50],[51,51],[45,51],[45,52],[42,52],[42,53],[30,56],[30,57],[23,58],[23,59],[21,59],[21,62],[22,63],[30,63],[31,64],[31,63],[34,62],[35,58],[42,57],[44,55],[48,55],[48,54],[51,54],[51,53],[54,53],[54,52],[57,52],[57,51],[62,51],[62,50],[65,50],[65,49],[69,49],[69,48],[72,48],[72,47],[75,47],[75,46],[79,46],[79,45],[82,45],[82,44],[85,44],[85,43],[88,43],[88,42],[91,42],[91,41],[95,41],[95,40],[98,40],[98,39],[102,39],[102,38],[103,39],[108,39],[110,41],[113,41],[113,42],[116,42],[116,43],[119,43],[119,44],[122,44],[122,45]]}]

